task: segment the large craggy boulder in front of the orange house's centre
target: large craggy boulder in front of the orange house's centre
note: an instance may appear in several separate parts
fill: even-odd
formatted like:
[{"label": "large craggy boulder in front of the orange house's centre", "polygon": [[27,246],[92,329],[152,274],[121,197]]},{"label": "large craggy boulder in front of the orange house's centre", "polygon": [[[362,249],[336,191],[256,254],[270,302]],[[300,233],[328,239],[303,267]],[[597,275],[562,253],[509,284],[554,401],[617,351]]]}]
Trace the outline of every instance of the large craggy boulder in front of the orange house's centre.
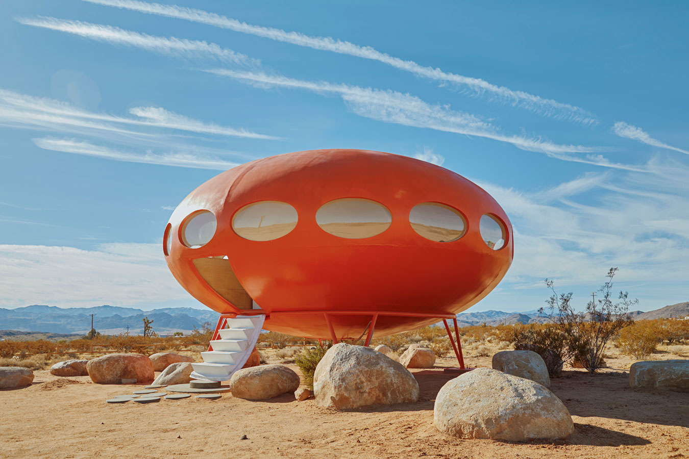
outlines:
[{"label": "large craggy boulder in front of the orange house's centre", "polygon": [[414,403],[419,385],[401,363],[371,348],[338,343],[325,353],[313,374],[316,403],[351,409]]}]

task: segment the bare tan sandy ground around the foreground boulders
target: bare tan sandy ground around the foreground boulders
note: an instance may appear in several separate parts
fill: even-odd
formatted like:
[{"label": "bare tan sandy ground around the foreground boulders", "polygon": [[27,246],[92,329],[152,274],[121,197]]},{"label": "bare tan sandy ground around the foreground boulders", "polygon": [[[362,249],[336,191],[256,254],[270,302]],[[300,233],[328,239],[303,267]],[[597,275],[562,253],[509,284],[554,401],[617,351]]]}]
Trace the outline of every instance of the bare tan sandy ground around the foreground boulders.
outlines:
[{"label": "bare tan sandy ground around the foreground boulders", "polygon": [[[490,366],[488,357],[467,360]],[[106,398],[141,387],[37,371],[33,385],[0,390],[0,458],[689,457],[689,394],[630,389],[624,372],[630,361],[608,363],[613,370],[595,376],[566,370],[553,380],[575,434],[527,443],[460,440],[433,427],[435,396],[453,378],[442,373],[456,365],[449,358],[434,370],[413,370],[418,403],[354,412],[317,407],[313,398],[297,402],[292,394],[271,401],[225,394],[217,401],[110,405]]]}]

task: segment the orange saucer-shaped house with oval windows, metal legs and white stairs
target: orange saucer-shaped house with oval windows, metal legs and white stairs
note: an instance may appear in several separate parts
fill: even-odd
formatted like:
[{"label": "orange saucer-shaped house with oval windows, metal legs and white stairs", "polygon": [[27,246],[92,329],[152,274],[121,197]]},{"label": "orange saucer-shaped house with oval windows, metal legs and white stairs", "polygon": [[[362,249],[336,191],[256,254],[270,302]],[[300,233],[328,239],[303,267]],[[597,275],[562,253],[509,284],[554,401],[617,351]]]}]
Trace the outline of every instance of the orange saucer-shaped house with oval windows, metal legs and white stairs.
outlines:
[{"label": "orange saucer-shaped house with oval windows, metal legs and white stairs", "polygon": [[[499,204],[461,175],[378,151],[299,151],[242,164],[192,191],[163,237],[167,266],[220,312],[205,363],[240,368],[260,329],[316,339],[413,330],[488,295],[513,258]],[[457,359],[464,367],[461,348]],[[234,354],[234,355],[231,355]]]}]

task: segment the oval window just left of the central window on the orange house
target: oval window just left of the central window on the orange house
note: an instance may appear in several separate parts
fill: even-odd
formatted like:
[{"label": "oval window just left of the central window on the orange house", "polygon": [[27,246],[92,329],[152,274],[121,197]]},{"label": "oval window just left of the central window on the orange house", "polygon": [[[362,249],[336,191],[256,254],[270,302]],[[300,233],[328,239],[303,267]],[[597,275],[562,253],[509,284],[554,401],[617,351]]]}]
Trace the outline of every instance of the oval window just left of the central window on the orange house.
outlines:
[{"label": "oval window just left of the central window on the orange house", "polygon": [[287,202],[260,201],[239,209],[232,219],[232,229],[250,241],[270,241],[292,231],[297,220],[297,211]]}]

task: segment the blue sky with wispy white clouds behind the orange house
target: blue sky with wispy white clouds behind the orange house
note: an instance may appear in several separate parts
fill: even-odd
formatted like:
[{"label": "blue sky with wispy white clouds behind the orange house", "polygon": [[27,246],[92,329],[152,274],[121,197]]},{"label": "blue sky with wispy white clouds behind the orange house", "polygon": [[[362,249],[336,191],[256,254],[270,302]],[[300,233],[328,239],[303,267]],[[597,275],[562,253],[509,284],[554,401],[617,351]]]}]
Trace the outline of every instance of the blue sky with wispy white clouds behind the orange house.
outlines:
[{"label": "blue sky with wispy white clouds behind the orange house", "polygon": [[[194,10],[190,9],[194,8]],[[202,307],[174,206],[234,164],[360,148],[442,164],[511,217],[472,310],[689,298],[686,2],[0,3],[0,307]]]}]

